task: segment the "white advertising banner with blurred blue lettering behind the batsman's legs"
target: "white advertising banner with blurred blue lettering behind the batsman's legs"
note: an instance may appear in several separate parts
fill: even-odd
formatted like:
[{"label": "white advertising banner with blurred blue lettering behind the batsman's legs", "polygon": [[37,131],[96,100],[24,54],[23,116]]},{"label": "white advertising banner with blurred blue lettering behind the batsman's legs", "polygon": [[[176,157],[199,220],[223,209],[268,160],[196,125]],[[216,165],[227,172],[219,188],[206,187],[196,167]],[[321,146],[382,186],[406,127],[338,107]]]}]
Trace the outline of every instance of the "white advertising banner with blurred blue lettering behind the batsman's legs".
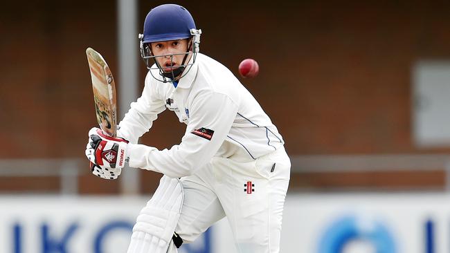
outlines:
[{"label": "white advertising banner with blurred blue lettering behind the batsman's legs", "polygon": [[[125,253],[148,198],[0,196],[0,252]],[[450,195],[288,194],[280,252],[450,252]],[[226,218],[180,253],[234,253]]]}]

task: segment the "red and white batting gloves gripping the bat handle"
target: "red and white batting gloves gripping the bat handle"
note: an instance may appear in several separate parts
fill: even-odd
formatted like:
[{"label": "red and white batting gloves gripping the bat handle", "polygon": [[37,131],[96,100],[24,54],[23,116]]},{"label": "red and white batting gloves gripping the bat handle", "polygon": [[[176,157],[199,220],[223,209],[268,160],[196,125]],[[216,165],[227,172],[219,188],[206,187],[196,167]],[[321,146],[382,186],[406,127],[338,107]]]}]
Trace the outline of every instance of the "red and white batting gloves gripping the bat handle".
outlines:
[{"label": "red and white batting gloves gripping the bat handle", "polygon": [[91,162],[92,174],[105,179],[116,179],[122,172],[127,156],[128,141],[105,135],[93,127],[89,131],[86,156]]}]

